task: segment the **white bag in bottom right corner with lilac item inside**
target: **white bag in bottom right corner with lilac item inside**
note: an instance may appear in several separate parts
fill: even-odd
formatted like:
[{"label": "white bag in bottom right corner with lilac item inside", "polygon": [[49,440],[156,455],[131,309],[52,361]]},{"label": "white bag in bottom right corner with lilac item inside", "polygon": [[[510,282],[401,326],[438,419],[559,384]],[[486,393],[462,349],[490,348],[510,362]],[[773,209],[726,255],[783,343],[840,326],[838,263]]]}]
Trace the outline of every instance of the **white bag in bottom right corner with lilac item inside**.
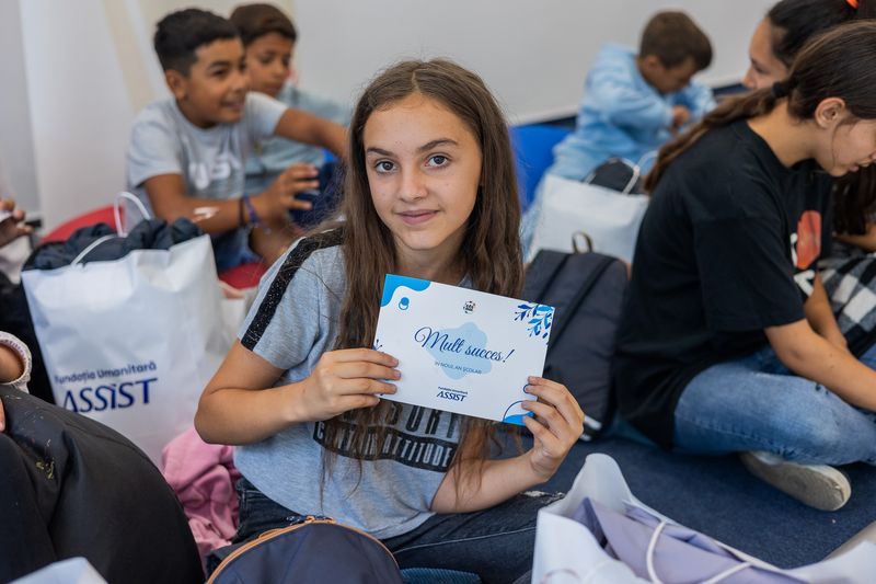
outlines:
[{"label": "white bag in bottom right corner with lilac item inside", "polygon": [[[627,584],[649,582],[624,563],[609,557],[593,535],[572,519],[589,497],[618,513],[643,508],[670,525],[672,519],[638,501],[624,481],[618,463],[606,455],[589,455],[564,499],[539,511],[532,584]],[[740,560],[765,571],[812,584],[869,584],[876,574],[876,545],[864,541],[846,553],[794,570],[781,570],[739,550],[718,543]],[[643,550],[643,553],[646,553]]]}]

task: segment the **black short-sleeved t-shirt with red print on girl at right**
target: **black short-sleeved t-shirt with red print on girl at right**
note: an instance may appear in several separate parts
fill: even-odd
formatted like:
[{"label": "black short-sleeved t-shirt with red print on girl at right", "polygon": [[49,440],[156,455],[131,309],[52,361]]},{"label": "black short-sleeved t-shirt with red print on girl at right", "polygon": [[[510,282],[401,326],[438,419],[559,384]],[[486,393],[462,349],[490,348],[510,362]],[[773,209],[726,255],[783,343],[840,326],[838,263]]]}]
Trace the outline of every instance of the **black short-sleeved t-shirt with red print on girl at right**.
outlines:
[{"label": "black short-sleeved t-shirt with red print on girl at right", "polygon": [[[666,171],[642,222],[621,321],[621,413],[672,446],[690,380],[804,318],[830,245],[830,178],[788,169],[746,121],[703,136]],[[740,403],[740,408],[746,404]]]}]

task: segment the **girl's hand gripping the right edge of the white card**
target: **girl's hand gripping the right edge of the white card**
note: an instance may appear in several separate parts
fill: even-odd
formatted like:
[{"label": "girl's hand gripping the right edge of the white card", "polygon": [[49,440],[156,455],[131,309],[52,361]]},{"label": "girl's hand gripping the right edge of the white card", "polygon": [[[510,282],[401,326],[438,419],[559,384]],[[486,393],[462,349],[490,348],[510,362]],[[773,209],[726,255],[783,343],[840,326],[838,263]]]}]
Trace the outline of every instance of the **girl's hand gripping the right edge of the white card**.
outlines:
[{"label": "girl's hand gripping the right edge of the white card", "polygon": [[523,417],[534,444],[527,454],[533,472],[543,481],[554,476],[572,446],[584,432],[584,412],[566,386],[542,377],[530,377],[527,392],[538,401],[525,401],[522,408],[535,417]]}]

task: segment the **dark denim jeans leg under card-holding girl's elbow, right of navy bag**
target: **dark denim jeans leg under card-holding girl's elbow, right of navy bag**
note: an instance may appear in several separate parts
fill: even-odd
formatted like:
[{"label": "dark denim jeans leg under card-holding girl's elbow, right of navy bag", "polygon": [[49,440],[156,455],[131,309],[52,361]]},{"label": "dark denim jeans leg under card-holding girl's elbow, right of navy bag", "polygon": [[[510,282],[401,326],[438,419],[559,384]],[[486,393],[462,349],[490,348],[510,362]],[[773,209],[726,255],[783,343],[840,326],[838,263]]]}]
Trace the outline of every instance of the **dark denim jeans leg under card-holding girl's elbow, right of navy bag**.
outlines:
[{"label": "dark denim jeans leg under card-holding girl's elbow, right of navy bag", "polygon": [[532,569],[535,517],[562,494],[527,492],[488,509],[434,515],[383,540],[402,568],[476,573],[485,583],[514,582]]}]

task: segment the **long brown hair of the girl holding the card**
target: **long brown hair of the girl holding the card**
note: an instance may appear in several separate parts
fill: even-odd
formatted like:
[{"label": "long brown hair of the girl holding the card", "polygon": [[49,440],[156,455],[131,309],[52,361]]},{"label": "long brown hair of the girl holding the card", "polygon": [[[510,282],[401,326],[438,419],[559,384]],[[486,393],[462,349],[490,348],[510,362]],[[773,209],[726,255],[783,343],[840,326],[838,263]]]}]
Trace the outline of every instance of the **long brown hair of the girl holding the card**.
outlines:
[{"label": "long brown hair of the girl holding the card", "polygon": [[[392,233],[380,220],[371,201],[366,173],[362,134],[376,111],[387,110],[412,94],[435,100],[456,114],[471,130],[483,157],[480,188],[469,217],[459,262],[474,287],[503,296],[519,296],[523,282],[518,237],[520,203],[508,126],[502,110],[480,77],[445,59],[410,60],[380,73],[362,93],[349,128],[349,163],[342,213],[343,250],[347,279],[335,348],[371,347],[385,274],[394,273],[397,256]],[[368,457],[367,444],[380,453],[387,438],[391,404],[347,412],[325,422],[325,445],[333,445],[350,424],[347,444],[354,458]],[[483,461],[491,446],[494,424],[466,417],[460,447],[451,468],[463,460]],[[372,450],[373,451],[373,450]],[[324,450],[323,472],[334,460]],[[474,470],[471,468],[470,470]],[[324,479],[325,474],[323,474]],[[457,476],[460,479],[460,476]],[[459,484],[459,482],[457,483]]]}]

